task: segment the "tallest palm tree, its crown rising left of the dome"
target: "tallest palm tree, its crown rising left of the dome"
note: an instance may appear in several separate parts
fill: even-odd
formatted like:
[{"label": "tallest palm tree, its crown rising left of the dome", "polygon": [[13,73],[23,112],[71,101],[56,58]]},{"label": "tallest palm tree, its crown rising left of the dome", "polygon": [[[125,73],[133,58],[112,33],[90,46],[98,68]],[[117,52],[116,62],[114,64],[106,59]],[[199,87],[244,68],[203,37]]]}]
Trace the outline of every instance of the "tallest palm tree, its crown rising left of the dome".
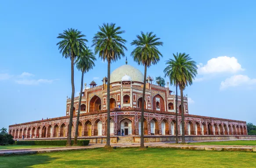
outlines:
[{"label": "tallest palm tree, its crown rising left of the dome", "polygon": [[121,30],[121,27],[115,27],[114,23],[103,24],[99,26],[98,31],[93,38],[93,45],[95,54],[99,53],[99,57],[103,61],[108,62],[108,86],[107,86],[107,144],[106,149],[110,148],[110,63],[121,59],[124,56],[124,50],[126,49],[125,42],[120,35],[125,31]]}]

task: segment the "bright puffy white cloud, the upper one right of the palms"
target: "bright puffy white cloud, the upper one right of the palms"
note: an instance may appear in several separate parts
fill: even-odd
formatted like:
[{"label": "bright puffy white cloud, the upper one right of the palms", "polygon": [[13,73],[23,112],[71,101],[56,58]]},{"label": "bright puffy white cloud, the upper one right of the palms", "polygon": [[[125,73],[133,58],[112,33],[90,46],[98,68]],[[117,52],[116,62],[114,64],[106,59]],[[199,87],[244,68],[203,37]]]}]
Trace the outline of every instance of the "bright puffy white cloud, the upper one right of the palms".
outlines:
[{"label": "bright puffy white cloud, the upper one right of the palms", "polygon": [[242,71],[242,66],[235,57],[219,56],[207,61],[206,65],[199,63],[198,74],[209,73],[236,73]]}]

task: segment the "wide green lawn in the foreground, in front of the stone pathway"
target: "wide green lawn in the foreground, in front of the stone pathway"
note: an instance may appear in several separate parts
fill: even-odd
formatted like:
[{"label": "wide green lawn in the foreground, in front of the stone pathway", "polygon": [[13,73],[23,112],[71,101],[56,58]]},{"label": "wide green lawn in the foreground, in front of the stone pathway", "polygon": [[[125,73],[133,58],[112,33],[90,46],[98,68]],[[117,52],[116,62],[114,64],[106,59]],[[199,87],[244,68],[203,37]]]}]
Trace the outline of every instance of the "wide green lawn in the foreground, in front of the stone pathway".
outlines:
[{"label": "wide green lawn in the foreground, in front of the stone pathway", "polygon": [[255,168],[256,153],[118,148],[0,157],[1,168]]}]

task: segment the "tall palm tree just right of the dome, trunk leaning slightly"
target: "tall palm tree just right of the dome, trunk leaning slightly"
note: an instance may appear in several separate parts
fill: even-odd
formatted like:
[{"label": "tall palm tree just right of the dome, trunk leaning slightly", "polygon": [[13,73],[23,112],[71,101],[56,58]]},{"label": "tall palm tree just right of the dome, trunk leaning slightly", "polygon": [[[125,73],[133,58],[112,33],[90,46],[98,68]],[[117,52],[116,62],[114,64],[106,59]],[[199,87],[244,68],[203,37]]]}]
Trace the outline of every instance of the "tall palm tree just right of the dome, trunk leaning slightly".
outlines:
[{"label": "tall palm tree just right of the dome, trunk leaning slightly", "polygon": [[153,35],[153,32],[147,32],[144,34],[141,31],[141,36],[137,35],[137,38],[131,42],[131,45],[135,45],[136,48],[131,52],[131,56],[135,62],[139,65],[144,66],[144,85],[143,85],[143,94],[142,94],[142,106],[141,106],[141,148],[144,147],[144,99],[145,99],[145,90],[146,90],[146,76],[147,76],[147,67],[149,68],[152,64],[155,65],[159,62],[161,52],[158,50],[157,46],[163,45],[163,42],[160,42],[160,38],[157,38],[156,35]]}]

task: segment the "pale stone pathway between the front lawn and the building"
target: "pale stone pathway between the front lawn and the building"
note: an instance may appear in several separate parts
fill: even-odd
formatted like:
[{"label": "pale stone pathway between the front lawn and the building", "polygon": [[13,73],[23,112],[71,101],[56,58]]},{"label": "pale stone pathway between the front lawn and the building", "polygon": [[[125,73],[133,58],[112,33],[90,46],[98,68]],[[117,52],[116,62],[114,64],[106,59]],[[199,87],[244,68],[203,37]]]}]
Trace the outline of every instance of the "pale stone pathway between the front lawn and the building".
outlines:
[{"label": "pale stone pathway between the front lawn and the building", "polygon": [[[176,149],[190,149],[190,150],[206,150],[206,151],[247,151],[256,152],[256,146],[230,146],[230,145],[181,145],[170,144],[171,142],[160,143],[145,143],[148,148],[176,148]],[[139,147],[140,144],[111,144],[114,148],[119,147]],[[104,147],[105,144],[90,144],[88,146],[79,147],[52,147],[52,148],[34,148],[34,149],[16,149],[16,150],[0,150],[0,156],[11,154],[36,154],[57,151],[73,151],[86,150]]]}]

